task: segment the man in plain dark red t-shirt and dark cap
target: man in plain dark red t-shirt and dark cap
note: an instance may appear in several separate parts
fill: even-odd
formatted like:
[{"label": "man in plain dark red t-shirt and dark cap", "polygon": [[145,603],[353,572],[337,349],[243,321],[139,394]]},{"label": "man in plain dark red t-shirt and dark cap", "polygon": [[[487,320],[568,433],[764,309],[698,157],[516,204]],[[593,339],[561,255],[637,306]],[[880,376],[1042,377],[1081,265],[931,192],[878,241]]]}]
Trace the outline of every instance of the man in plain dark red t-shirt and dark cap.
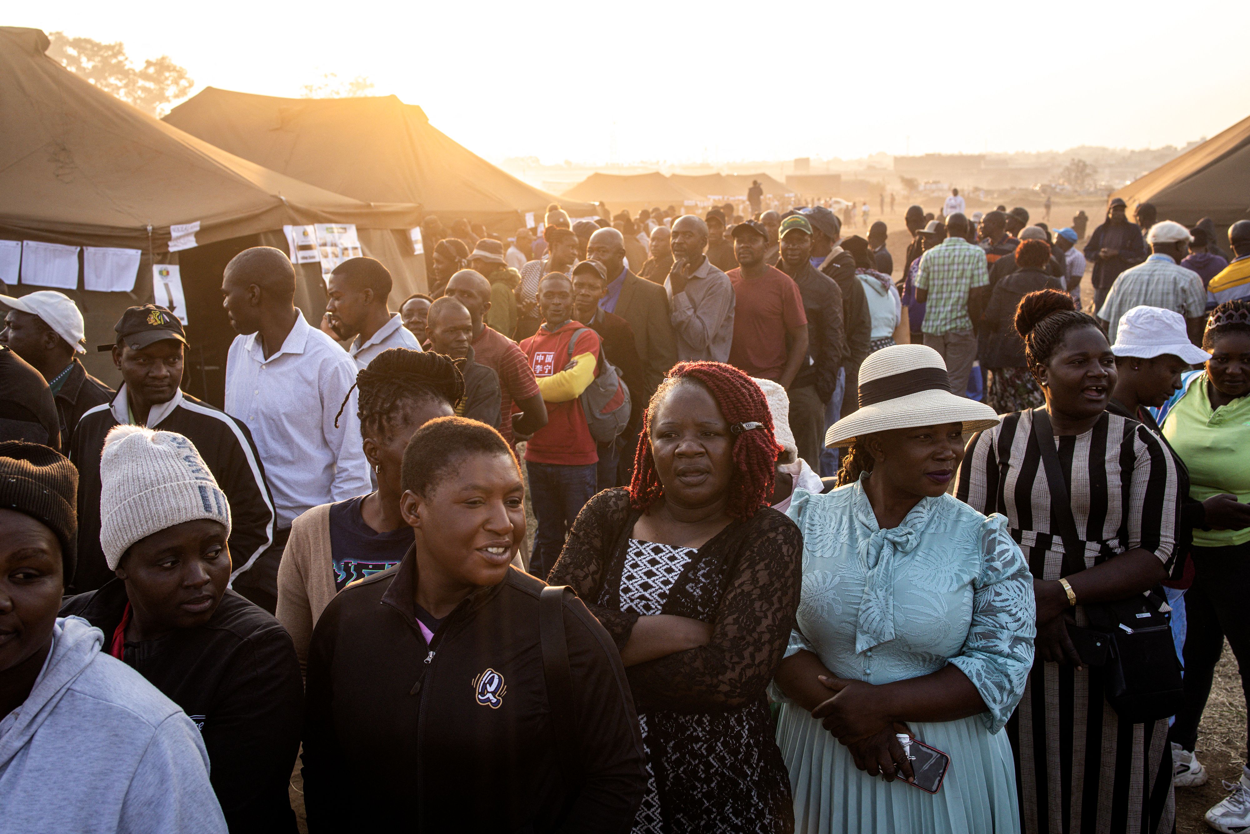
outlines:
[{"label": "man in plain dark red t-shirt and dark cap", "polygon": [[765,263],[768,245],[762,224],[748,220],[734,226],[738,269],[728,273],[734,285],[729,364],[790,388],[808,356],[808,315],[794,279]]}]

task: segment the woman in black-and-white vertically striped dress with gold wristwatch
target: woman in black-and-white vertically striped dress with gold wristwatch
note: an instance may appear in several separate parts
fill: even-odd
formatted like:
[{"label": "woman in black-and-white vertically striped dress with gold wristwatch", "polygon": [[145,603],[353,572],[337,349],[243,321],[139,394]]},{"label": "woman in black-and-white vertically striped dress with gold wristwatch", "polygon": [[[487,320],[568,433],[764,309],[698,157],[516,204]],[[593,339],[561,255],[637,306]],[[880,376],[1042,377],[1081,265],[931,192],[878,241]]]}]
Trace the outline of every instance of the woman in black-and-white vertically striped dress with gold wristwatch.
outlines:
[{"label": "woman in black-and-white vertically striped dress with gold wristwatch", "polygon": [[1076,311],[1070,296],[1031,293],[1015,324],[1046,395],[1085,545],[1085,569],[1062,571],[1032,411],[1009,414],[972,438],[956,494],[981,513],[1008,516],[1029,559],[1038,603],[1036,661],[1008,724],[1024,831],[1171,831],[1168,721],[1120,721],[1104,696],[1102,668],[1082,668],[1068,624],[1088,624],[1085,604],[1125,599],[1166,579],[1178,513],[1175,465],[1145,426],[1106,411],[1115,356],[1098,323]]}]

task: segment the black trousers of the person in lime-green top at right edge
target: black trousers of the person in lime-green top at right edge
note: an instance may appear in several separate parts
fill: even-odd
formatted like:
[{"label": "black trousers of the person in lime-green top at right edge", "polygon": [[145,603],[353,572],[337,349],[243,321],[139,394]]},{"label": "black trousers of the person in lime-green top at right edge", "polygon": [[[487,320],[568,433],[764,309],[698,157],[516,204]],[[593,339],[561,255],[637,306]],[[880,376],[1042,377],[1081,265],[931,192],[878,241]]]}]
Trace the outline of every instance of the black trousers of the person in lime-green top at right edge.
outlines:
[{"label": "black trousers of the person in lime-green top at right edge", "polygon": [[[1241,694],[1250,703],[1250,543],[1228,548],[1194,548],[1194,584],[1185,591],[1185,703],[1168,738],[1186,750],[1198,743],[1198,725],[1211,694],[1215,664],[1229,639],[1241,674]],[[1250,738],[1246,739],[1250,755]]]}]

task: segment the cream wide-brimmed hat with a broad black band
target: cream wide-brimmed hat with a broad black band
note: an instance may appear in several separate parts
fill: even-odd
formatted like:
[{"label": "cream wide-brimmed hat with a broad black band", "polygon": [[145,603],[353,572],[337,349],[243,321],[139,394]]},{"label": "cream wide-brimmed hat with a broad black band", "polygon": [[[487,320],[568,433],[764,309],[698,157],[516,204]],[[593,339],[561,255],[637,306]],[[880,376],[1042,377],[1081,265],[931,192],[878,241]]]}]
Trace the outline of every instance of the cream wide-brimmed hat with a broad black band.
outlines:
[{"label": "cream wide-brimmed hat with a broad black band", "polygon": [[860,365],[858,411],[825,433],[826,446],[849,446],[856,438],[891,429],[962,423],[964,431],[998,425],[989,405],[950,391],[941,354],[926,345],[891,345]]}]

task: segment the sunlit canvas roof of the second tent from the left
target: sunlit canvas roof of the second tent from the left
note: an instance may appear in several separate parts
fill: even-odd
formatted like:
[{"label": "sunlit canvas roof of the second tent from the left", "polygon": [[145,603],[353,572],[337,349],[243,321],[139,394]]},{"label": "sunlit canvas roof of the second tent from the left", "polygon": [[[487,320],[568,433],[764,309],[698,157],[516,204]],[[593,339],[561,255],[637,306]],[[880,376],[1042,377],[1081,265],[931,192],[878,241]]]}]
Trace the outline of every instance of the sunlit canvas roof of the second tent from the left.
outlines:
[{"label": "sunlit canvas roof of the second tent from the left", "polygon": [[[415,203],[445,225],[455,218],[515,231],[526,213],[542,220],[555,196],[434,128],[394,95],[281,99],[208,88],[165,121],[231,154],[338,194]],[[588,204],[561,205],[574,216]]]}]

